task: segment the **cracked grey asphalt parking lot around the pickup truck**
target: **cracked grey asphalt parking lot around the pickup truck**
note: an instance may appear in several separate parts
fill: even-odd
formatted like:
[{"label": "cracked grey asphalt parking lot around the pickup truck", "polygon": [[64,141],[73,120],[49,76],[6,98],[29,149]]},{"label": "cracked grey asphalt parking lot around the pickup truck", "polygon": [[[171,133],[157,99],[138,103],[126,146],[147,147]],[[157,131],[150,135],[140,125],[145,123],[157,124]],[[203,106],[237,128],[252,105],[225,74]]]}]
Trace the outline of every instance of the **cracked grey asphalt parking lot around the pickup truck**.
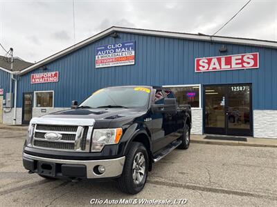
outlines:
[{"label": "cracked grey asphalt parking lot around the pickup truck", "polygon": [[125,195],[114,181],[48,181],[28,174],[21,161],[25,135],[22,130],[0,130],[0,206],[91,206],[91,199],[277,206],[276,148],[191,144],[154,164],[141,193]]}]

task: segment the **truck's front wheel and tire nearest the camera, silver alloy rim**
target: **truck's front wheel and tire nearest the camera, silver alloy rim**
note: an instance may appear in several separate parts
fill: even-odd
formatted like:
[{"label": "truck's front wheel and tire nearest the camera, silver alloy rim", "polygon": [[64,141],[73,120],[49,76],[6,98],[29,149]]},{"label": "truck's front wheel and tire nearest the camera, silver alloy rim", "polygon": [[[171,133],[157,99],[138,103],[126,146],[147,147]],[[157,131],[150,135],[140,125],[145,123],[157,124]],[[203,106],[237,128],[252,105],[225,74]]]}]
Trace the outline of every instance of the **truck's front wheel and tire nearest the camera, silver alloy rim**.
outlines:
[{"label": "truck's front wheel and tire nearest the camera, silver alloy rim", "polygon": [[141,192],[148,177],[148,167],[148,151],[143,144],[133,142],[126,155],[122,175],[117,180],[118,188],[132,195]]}]

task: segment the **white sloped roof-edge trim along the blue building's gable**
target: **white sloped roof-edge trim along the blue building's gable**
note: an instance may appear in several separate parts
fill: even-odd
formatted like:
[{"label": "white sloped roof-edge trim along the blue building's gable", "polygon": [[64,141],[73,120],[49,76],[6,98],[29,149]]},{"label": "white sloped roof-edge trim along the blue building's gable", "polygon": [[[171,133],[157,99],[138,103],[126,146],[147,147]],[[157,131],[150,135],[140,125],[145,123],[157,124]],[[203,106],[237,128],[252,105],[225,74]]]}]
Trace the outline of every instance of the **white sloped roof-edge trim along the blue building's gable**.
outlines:
[{"label": "white sloped roof-edge trim along the blue building's gable", "polygon": [[41,66],[44,66],[46,63],[54,61],[64,55],[73,52],[74,50],[78,50],[84,46],[87,46],[102,37],[111,34],[112,32],[125,32],[125,33],[133,33],[133,34],[144,34],[158,37],[170,37],[170,38],[178,38],[178,39],[192,39],[192,40],[200,40],[200,41],[213,41],[213,42],[224,42],[224,43],[235,43],[240,45],[249,45],[249,46],[259,46],[259,47],[267,47],[267,48],[277,48],[277,41],[267,41],[260,39],[246,39],[246,38],[238,38],[238,37],[222,37],[222,36],[209,36],[206,34],[189,34],[189,33],[181,33],[181,32],[168,32],[161,30],[145,30],[145,29],[136,29],[136,28],[123,28],[112,26],[107,30],[99,32],[98,34],[81,41],[80,43],[76,43],[75,45],[66,48],[60,52],[51,55],[50,57],[46,57],[46,59],[42,59],[42,61],[38,61],[34,63],[32,66],[21,70],[20,75],[24,75],[31,70],[35,70]]}]

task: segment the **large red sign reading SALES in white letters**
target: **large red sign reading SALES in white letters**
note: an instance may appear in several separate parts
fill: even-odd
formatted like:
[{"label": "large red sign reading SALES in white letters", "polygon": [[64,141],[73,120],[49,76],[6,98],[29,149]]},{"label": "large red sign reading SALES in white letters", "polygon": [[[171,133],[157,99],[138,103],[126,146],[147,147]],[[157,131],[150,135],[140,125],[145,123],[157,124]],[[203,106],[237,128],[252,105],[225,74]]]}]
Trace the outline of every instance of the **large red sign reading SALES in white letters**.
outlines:
[{"label": "large red sign reading SALES in white letters", "polygon": [[259,68],[259,53],[202,57],[195,59],[195,72]]}]

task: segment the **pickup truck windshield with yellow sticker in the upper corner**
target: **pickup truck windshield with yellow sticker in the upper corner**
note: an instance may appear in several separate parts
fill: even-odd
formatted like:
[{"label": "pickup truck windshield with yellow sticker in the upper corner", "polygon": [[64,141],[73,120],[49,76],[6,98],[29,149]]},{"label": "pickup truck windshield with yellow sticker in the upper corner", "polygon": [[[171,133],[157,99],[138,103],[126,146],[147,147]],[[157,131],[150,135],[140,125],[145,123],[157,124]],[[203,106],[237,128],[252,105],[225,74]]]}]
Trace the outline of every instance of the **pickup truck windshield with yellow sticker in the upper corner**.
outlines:
[{"label": "pickup truck windshield with yellow sticker in the upper corner", "polygon": [[103,88],[80,104],[80,108],[136,108],[146,106],[150,88],[118,87]]}]

